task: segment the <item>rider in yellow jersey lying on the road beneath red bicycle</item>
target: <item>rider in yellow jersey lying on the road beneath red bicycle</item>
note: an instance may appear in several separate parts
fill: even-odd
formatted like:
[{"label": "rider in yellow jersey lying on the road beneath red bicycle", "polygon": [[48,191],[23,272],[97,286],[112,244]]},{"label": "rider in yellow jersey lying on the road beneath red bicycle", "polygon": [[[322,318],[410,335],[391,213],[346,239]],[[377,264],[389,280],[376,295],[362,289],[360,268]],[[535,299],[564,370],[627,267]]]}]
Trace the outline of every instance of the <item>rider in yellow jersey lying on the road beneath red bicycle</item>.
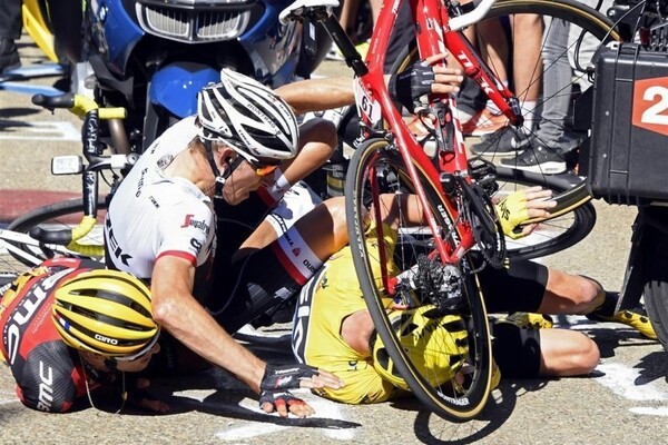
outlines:
[{"label": "rider in yellow jersey lying on the road beneath red bicycle", "polygon": [[[549,208],[543,200],[544,192],[533,191],[530,189],[523,197],[524,210],[532,216],[536,211]],[[397,195],[383,196],[382,199],[415,202]],[[394,208],[405,209],[405,205],[403,202]],[[385,205],[382,207],[390,208]],[[383,219],[387,225],[383,230],[386,234],[384,241],[391,249],[396,244],[394,219],[395,215],[391,212]],[[410,217],[407,219],[412,220]],[[610,294],[589,278],[532,261],[513,261],[509,268],[501,270],[488,267],[479,273],[479,279],[490,314],[517,310],[536,313],[546,308],[551,309],[552,314],[587,314],[597,308],[595,305],[600,306],[601,301],[605,306]],[[508,298],[510,293],[512,298]],[[387,300],[387,307],[392,307],[391,299]],[[395,313],[397,310],[392,312],[390,317]],[[418,319],[419,314],[411,316]],[[538,322],[514,316],[492,324],[492,355],[500,369],[500,373],[494,373],[492,387],[501,375],[511,378],[581,376],[597,366],[599,349],[587,335],[570,329],[552,329],[547,318],[534,318]],[[456,328],[456,324],[449,326]],[[450,334],[443,334],[442,337],[448,342]],[[407,394],[407,386],[385,364],[374,360],[379,343],[380,337],[375,337],[373,322],[356,278],[352,253],[346,246],[333,255],[302,289],[294,317],[293,353],[298,362],[326,368],[345,383],[337,389],[321,388],[314,393],[348,404],[380,403]],[[456,347],[450,348],[453,355],[465,354],[465,348]],[[431,366],[429,375],[440,374],[448,379],[459,370],[452,365],[459,362],[451,357],[429,357],[429,353],[425,356],[420,366]],[[438,367],[441,368],[434,369]]]}]

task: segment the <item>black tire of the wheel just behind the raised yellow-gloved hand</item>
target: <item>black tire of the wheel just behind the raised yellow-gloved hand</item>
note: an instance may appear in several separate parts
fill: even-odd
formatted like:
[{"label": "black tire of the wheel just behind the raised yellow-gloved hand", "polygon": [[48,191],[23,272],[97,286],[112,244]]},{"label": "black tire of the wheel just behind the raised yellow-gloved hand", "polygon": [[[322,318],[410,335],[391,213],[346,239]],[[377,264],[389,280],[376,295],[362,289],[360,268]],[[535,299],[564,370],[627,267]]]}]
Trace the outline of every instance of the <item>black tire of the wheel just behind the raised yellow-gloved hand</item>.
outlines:
[{"label": "black tire of the wheel just behind the raised yellow-gloved hand", "polygon": [[532,259],[557,254],[587,237],[596,225],[596,208],[591,202],[591,192],[587,182],[572,186],[567,179],[558,176],[544,176],[507,167],[497,168],[497,178],[501,182],[517,182],[522,186],[541,186],[552,190],[557,205],[550,209],[551,218],[540,221],[557,227],[558,218],[572,218],[572,224],[553,238],[524,247],[507,248],[509,258]]}]

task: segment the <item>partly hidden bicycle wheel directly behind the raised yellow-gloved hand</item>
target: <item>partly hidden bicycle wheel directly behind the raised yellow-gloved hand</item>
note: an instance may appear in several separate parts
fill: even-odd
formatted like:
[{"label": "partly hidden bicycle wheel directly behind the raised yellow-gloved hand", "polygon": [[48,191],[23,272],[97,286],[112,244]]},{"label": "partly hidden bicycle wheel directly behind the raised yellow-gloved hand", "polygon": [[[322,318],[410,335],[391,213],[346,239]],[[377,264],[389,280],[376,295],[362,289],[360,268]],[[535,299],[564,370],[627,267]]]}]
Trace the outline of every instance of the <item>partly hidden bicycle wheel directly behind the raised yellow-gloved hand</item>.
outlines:
[{"label": "partly hidden bicycle wheel directly behind the raised yellow-gloved hand", "polygon": [[556,176],[543,176],[512,168],[497,168],[499,190],[495,198],[527,187],[541,186],[552,190],[557,206],[550,209],[552,217],[538,222],[531,235],[505,239],[510,258],[538,258],[567,249],[583,239],[596,224],[596,209],[586,182],[572,186],[568,180]]}]

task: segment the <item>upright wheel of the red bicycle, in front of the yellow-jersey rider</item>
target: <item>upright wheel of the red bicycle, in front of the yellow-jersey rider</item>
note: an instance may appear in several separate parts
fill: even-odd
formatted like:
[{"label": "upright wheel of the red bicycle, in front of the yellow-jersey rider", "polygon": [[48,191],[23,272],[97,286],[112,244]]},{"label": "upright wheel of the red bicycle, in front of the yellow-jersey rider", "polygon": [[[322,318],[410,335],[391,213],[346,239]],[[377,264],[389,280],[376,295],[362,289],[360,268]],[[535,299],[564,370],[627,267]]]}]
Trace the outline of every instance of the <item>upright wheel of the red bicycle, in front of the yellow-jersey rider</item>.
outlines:
[{"label": "upright wheel of the red bicycle, in front of the yellow-jersey rider", "polygon": [[[442,238],[452,247],[459,235],[454,231],[451,216],[444,210],[446,207],[439,185],[431,182],[422,171],[420,176],[429,200],[428,211],[442,231]],[[355,270],[377,335],[406,385],[435,414],[454,422],[472,419],[480,413],[490,393],[492,358],[484,301],[472,271],[474,266],[471,258],[465,256],[458,265],[444,266],[438,256],[436,259],[430,256],[433,251],[432,233],[424,225],[410,224],[415,220],[415,214],[411,215],[407,206],[399,204],[401,198],[397,192],[412,191],[406,166],[386,140],[370,139],[355,150],[345,184],[346,218],[350,221],[348,235]],[[387,240],[389,229],[384,225],[380,225],[380,230],[379,225],[376,229],[364,230],[364,221],[370,212],[371,220],[375,220],[377,215],[390,211],[380,200],[380,194],[385,192],[394,194],[391,199],[396,198],[397,202],[393,206],[394,215],[399,214],[395,219],[399,221],[396,241]],[[372,206],[372,202],[377,204]],[[377,239],[385,241],[377,243]],[[387,258],[392,259],[385,261]],[[384,264],[387,264],[386,268],[379,266]],[[438,370],[424,368],[414,355],[404,350],[402,335],[396,332],[386,313],[387,293],[384,291],[385,284],[392,281],[392,277],[400,271],[402,283],[407,279],[418,285],[406,290],[407,296],[394,293],[395,298],[401,294],[404,300],[410,299],[411,308],[429,307],[439,315],[456,314],[463,318],[469,352],[455,378],[443,382]],[[443,332],[446,336],[451,335],[450,330]],[[453,338],[450,340],[455,342]],[[426,345],[421,342],[425,342],[424,337],[420,337],[416,347],[424,350]],[[445,355],[446,343],[430,344],[430,352],[439,349],[439,354],[452,359],[451,355]]]}]

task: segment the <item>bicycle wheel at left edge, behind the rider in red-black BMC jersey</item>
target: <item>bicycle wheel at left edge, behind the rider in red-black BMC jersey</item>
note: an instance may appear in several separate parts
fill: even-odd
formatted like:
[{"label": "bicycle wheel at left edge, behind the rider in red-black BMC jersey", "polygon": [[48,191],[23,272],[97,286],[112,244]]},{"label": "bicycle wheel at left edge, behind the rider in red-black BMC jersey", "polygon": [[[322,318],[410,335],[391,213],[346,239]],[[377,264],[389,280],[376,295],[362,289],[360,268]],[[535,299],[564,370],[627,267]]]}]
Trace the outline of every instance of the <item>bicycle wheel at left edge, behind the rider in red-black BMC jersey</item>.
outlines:
[{"label": "bicycle wheel at left edge, behind the rider in red-black BMC jersey", "polygon": [[[105,202],[105,199],[100,198],[98,200],[97,225],[86,237],[79,240],[81,244],[91,246],[104,246],[102,224],[105,220],[105,216],[107,215],[106,210],[107,204]],[[31,212],[14,219],[7,228],[8,230],[13,230],[23,234],[29,234],[30,230],[35,227],[41,227],[47,230],[71,229],[81,221],[82,217],[84,200],[81,198],[70,199],[39,207],[32,210]],[[62,246],[36,246],[22,243],[16,243],[14,245],[21,250],[30,253],[31,255],[41,259],[50,258],[56,253],[68,254],[73,256],[84,256],[81,254],[67,250]],[[33,266],[33,264],[26,261],[24,258],[21,258],[20,256],[11,251],[9,251],[9,254],[17,260],[28,266]],[[96,257],[96,259],[99,258]]]}]

